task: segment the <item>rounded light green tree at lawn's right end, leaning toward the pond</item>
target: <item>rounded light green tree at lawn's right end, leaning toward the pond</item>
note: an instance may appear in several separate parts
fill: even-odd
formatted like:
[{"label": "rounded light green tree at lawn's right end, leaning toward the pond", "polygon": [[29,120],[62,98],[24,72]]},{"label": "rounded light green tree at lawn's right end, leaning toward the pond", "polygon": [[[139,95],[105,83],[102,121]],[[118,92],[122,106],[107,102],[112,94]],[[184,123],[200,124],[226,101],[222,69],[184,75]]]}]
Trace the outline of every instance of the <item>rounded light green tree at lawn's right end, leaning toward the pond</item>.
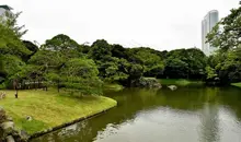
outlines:
[{"label": "rounded light green tree at lawn's right end, leaning toward the pond", "polygon": [[97,74],[97,68],[91,59],[73,58],[60,70],[64,87],[78,91],[80,95],[102,93],[102,82]]}]

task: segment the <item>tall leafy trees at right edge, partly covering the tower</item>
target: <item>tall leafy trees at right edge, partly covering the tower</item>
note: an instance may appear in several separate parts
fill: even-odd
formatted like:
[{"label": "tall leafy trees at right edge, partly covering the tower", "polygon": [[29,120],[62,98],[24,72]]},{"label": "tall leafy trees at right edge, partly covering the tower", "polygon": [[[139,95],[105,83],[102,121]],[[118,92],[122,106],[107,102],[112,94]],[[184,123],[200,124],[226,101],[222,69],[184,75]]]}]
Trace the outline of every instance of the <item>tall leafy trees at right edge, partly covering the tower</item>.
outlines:
[{"label": "tall leafy trees at right edge, partly covering the tower", "polygon": [[208,42],[219,50],[208,59],[207,75],[220,84],[241,81],[241,7],[208,34]]}]

